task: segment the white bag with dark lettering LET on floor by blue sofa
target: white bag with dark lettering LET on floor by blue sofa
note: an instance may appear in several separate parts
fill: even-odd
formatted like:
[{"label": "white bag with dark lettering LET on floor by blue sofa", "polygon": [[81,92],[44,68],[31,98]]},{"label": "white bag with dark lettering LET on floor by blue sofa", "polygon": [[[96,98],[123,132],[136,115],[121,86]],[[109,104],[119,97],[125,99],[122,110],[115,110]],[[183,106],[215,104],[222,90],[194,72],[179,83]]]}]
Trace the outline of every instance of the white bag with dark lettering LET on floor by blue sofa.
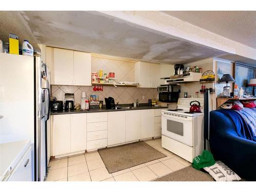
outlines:
[{"label": "white bag with dark lettering LET on floor by blue sofa", "polygon": [[221,161],[216,161],[214,165],[204,167],[216,181],[239,181],[241,178],[234,173],[227,165]]}]

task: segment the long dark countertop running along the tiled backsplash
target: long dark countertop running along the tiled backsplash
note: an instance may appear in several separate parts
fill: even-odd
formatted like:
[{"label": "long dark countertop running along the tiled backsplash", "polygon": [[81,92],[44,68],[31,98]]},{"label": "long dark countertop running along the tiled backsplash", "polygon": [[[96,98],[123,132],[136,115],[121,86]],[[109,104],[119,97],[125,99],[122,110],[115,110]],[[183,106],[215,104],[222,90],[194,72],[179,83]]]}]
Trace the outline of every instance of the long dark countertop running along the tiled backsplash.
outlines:
[{"label": "long dark countertop running along the tiled backsplash", "polygon": [[113,112],[113,111],[131,111],[131,110],[152,110],[152,109],[164,109],[167,108],[166,106],[137,106],[133,107],[132,109],[117,109],[117,110],[107,110],[105,108],[102,109],[90,109],[88,111],[82,111],[82,110],[70,110],[70,111],[57,111],[57,112],[51,112],[51,115],[64,115],[64,114],[74,114],[74,113],[96,113],[96,112]]}]

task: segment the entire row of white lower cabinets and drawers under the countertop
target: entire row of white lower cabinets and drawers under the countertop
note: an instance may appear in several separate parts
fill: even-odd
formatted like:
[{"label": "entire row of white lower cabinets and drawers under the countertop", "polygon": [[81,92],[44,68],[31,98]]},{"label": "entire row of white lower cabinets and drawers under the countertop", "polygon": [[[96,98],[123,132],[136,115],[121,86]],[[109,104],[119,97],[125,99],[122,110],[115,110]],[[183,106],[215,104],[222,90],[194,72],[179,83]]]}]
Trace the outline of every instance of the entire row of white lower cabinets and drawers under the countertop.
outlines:
[{"label": "entire row of white lower cabinets and drawers under the countertop", "polygon": [[161,136],[161,110],[53,115],[52,156]]}]

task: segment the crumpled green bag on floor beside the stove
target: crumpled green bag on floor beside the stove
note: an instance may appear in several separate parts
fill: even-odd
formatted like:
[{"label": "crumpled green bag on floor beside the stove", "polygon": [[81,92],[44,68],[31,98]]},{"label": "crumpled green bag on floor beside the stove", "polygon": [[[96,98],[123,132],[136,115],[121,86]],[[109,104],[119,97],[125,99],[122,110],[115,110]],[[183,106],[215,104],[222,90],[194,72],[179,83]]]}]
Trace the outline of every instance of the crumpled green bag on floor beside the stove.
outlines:
[{"label": "crumpled green bag on floor beside the stove", "polygon": [[193,159],[192,166],[198,170],[215,164],[214,156],[207,150]]}]

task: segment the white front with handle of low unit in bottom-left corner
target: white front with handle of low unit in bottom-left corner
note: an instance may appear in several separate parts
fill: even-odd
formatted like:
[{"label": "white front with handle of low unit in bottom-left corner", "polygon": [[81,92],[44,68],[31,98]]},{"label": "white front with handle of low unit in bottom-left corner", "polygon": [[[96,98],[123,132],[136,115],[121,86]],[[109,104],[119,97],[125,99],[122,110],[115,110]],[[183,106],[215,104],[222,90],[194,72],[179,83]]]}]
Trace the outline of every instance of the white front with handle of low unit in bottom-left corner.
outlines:
[{"label": "white front with handle of low unit in bottom-left corner", "polygon": [[32,181],[31,146],[13,170],[9,181]]}]

